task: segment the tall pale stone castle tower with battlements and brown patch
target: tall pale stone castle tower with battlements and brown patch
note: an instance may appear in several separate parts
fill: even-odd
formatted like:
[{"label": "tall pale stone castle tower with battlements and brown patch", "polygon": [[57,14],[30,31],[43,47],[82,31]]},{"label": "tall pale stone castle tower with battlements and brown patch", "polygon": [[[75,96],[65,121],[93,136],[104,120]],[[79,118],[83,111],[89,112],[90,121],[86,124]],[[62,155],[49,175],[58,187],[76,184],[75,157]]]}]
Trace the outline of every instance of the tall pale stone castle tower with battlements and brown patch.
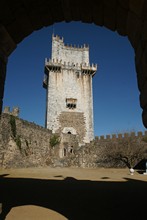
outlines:
[{"label": "tall pale stone castle tower with battlements and brown patch", "polygon": [[94,138],[92,77],[97,65],[89,64],[89,47],[64,44],[52,36],[51,59],[45,60],[43,86],[47,91],[46,128],[74,134],[79,144]]}]

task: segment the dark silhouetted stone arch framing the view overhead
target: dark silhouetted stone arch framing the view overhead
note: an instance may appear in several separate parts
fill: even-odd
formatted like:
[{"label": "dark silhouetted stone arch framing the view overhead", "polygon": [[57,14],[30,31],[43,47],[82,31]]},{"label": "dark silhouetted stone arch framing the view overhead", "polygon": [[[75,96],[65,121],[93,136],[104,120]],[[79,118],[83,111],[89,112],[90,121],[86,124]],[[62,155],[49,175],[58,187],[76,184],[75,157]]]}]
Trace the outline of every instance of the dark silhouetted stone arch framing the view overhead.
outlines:
[{"label": "dark silhouetted stone arch framing the view overhead", "polygon": [[[61,21],[105,26],[127,36],[135,52],[143,124],[147,128],[147,1],[30,0],[0,3],[0,111],[9,55],[25,37]],[[18,31],[19,30],[19,31]]]}]

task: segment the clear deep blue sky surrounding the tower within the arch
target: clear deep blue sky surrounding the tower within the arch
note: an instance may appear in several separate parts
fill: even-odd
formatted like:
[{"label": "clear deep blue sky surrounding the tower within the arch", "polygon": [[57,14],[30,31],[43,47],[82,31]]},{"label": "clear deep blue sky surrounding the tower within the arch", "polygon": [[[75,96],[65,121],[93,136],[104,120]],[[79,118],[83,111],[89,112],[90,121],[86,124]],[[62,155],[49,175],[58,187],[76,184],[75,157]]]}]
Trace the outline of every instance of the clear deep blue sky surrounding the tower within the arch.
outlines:
[{"label": "clear deep blue sky surrounding the tower within the arch", "polygon": [[134,64],[127,37],[104,27],[80,22],[56,23],[21,42],[8,61],[4,105],[20,107],[20,117],[44,126],[46,90],[44,60],[51,57],[52,33],[65,43],[89,44],[93,78],[95,135],[144,131]]}]

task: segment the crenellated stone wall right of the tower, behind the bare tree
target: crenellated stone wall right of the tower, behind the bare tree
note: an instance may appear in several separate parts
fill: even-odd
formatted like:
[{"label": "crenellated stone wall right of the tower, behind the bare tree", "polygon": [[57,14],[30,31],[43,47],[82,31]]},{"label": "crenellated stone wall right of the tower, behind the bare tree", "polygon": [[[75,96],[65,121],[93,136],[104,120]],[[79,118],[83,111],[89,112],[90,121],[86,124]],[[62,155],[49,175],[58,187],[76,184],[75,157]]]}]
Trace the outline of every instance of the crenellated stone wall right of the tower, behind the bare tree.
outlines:
[{"label": "crenellated stone wall right of the tower, behind the bare tree", "polygon": [[[115,146],[115,148],[113,148]],[[124,148],[125,147],[125,148]],[[66,167],[119,167],[123,168],[127,165],[121,160],[115,160],[109,157],[109,151],[111,152],[115,149],[117,155],[117,150],[122,149],[125,152],[125,156],[133,158],[133,155],[138,154],[133,158],[134,160],[140,162],[141,159],[147,158],[147,132],[138,132],[135,136],[131,136],[131,133],[122,134],[121,136],[113,135],[109,137],[98,138],[96,137],[90,144],[81,146],[74,151],[74,155],[69,155],[69,157],[62,158],[60,164]],[[136,164],[137,164],[136,163]]]}]

